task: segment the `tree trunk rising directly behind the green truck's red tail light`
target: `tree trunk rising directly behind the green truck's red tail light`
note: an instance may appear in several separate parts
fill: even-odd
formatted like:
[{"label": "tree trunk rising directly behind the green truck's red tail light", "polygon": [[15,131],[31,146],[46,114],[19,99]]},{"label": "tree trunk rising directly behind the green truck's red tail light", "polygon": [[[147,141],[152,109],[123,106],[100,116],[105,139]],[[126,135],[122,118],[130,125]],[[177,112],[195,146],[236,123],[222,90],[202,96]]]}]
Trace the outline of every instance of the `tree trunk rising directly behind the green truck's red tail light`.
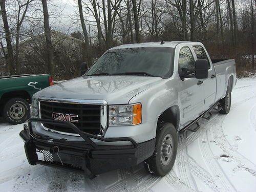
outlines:
[{"label": "tree trunk rising directly behind the green truck's red tail light", "polygon": [[48,70],[51,75],[54,77],[54,62],[53,62],[53,47],[51,32],[49,26],[49,13],[47,8],[47,0],[42,0],[42,10],[44,12],[44,27],[45,27],[45,36],[46,36],[46,51],[47,51],[47,61],[48,61]]}]

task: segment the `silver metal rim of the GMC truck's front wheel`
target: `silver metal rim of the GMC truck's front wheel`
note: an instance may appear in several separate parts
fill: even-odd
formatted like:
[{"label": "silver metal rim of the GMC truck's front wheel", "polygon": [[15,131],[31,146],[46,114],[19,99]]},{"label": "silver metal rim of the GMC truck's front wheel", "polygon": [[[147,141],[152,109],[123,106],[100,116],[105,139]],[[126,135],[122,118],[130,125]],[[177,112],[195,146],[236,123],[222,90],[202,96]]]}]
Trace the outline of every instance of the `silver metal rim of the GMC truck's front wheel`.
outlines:
[{"label": "silver metal rim of the GMC truck's front wheel", "polygon": [[173,138],[167,134],[162,142],[161,147],[161,162],[163,165],[168,165],[173,156]]}]

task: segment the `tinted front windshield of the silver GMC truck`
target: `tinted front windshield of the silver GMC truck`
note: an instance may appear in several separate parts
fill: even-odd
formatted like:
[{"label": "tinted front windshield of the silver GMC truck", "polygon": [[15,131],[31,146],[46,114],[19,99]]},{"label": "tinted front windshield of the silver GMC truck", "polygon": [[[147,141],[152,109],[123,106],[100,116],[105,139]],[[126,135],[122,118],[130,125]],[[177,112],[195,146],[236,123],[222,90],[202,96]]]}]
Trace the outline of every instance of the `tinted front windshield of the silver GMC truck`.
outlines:
[{"label": "tinted front windshield of the silver GMC truck", "polygon": [[141,47],[114,49],[104,53],[85,75],[170,76],[174,48]]}]

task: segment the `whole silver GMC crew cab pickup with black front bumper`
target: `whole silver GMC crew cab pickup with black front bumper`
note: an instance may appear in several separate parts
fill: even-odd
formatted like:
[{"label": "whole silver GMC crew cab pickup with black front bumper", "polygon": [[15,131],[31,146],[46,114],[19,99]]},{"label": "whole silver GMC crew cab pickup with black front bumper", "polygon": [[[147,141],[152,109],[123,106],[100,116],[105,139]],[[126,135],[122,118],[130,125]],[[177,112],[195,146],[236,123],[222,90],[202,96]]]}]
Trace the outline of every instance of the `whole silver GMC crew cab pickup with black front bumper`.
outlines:
[{"label": "whole silver GMC crew cab pickup with black front bumper", "polygon": [[211,110],[227,114],[233,59],[212,60],[200,42],[148,42],[106,51],[81,77],[33,95],[20,136],[31,165],[87,174],[145,162],[172,169],[178,134],[196,132]]}]

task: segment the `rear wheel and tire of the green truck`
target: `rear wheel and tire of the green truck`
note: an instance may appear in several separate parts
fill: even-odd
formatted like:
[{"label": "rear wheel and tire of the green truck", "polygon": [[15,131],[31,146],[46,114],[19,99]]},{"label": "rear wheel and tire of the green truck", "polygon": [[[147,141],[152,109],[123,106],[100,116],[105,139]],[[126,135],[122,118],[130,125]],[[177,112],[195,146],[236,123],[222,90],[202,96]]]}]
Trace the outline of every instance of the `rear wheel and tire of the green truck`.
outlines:
[{"label": "rear wheel and tire of the green truck", "polygon": [[13,98],[4,106],[4,118],[10,124],[24,123],[30,117],[29,103],[23,98]]}]

